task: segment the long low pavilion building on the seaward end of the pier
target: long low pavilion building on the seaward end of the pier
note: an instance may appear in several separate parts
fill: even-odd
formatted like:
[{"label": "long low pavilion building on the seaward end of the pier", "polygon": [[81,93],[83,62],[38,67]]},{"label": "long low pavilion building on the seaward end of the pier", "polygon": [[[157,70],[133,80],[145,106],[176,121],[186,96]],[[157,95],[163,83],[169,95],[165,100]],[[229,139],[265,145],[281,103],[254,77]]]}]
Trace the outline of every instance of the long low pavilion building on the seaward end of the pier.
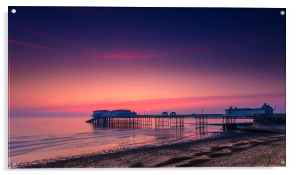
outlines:
[{"label": "long low pavilion building on the seaward end of the pier", "polygon": [[99,117],[99,116],[137,116],[137,113],[135,111],[131,112],[130,110],[126,109],[117,109],[113,111],[108,110],[98,110],[93,111],[93,117]]}]

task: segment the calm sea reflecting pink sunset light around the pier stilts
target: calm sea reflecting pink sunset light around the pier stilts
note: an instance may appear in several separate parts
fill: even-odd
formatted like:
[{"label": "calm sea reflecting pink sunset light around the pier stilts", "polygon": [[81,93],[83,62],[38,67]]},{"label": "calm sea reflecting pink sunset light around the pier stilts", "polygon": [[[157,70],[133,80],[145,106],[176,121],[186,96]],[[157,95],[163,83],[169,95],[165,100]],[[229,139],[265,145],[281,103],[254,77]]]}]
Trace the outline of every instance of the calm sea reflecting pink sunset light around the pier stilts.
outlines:
[{"label": "calm sea reflecting pink sunset light around the pier stilts", "polygon": [[[196,129],[195,119],[183,128],[117,124],[100,128],[85,123],[90,117],[11,118],[8,131],[8,164],[98,153],[149,144],[169,144],[220,134],[221,126]],[[222,119],[208,119],[221,123]],[[251,122],[248,119],[237,122]]]}]

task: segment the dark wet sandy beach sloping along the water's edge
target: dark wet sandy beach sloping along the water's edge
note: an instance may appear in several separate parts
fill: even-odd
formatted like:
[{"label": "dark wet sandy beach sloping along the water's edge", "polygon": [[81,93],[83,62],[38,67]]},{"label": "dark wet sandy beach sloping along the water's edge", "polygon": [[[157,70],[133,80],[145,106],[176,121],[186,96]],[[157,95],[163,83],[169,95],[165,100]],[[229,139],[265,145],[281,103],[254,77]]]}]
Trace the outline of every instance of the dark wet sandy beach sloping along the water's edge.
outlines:
[{"label": "dark wet sandy beach sloping along the water's edge", "polygon": [[204,140],[87,156],[16,168],[286,166],[286,134],[230,131]]}]

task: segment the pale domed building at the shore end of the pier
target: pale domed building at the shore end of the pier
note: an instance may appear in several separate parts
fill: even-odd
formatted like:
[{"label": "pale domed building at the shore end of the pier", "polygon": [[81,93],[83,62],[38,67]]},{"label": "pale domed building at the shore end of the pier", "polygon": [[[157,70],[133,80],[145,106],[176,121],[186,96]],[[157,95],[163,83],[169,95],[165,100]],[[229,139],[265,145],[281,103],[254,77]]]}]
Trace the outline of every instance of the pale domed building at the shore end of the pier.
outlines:
[{"label": "pale domed building at the shore end of the pier", "polygon": [[274,109],[264,103],[261,108],[233,108],[230,106],[229,109],[225,110],[226,116],[253,116],[255,113],[257,114],[273,114]]}]

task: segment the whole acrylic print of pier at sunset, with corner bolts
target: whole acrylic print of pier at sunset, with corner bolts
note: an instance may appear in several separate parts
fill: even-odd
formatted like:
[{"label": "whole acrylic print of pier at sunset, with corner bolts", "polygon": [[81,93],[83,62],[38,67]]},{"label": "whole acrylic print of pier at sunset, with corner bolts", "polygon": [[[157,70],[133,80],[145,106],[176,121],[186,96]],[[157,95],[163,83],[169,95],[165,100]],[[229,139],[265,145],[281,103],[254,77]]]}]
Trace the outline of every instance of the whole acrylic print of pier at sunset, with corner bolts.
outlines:
[{"label": "whole acrylic print of pier at sunset, with corner bolts", "polygon": [[286,166],[286,9],[8,7],[8,168]]}]

